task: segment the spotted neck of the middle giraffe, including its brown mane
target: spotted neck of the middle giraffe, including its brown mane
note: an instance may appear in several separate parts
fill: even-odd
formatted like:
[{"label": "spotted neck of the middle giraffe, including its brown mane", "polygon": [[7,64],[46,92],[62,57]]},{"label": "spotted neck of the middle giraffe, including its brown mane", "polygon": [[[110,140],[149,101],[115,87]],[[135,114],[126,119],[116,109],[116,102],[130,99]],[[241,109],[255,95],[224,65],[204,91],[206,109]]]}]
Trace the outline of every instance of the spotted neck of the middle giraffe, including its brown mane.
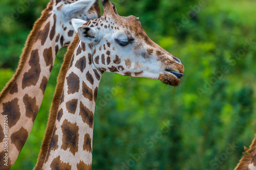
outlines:
[{"label": "spotted neck of the middle giraffe, including its brown mane", "polygon": [[[70,46],[74,48],[77,44],[75,50],[68,50],[75,55],[67,54],[62,65],[67,68],[60,71],[46,137],[35,169],[54,169],[56,165],[91,169],[94,110],[101,72],[93,64],[95,51],[93,53],[91,44],[78,41],[76,36]],[[86,55],[84,52],[80,55],[82,51],[86,51]]]}]

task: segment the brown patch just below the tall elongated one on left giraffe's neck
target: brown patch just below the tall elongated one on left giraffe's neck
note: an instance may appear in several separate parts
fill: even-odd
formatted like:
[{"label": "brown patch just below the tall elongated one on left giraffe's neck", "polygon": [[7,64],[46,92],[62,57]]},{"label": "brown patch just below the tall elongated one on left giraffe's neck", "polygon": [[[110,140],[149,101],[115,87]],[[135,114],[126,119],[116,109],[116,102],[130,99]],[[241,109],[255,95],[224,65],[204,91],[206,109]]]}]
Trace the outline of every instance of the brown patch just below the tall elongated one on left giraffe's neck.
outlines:
[{"label": "brown patch just below the tall elongated one on left giraffe's neck", "polygon": [[34,122],[38,112],[38,106],[36,105],[36,98],[31,98],[28,94],[23,97],[23,103],[26,108],[26,116],[32,118]]}]

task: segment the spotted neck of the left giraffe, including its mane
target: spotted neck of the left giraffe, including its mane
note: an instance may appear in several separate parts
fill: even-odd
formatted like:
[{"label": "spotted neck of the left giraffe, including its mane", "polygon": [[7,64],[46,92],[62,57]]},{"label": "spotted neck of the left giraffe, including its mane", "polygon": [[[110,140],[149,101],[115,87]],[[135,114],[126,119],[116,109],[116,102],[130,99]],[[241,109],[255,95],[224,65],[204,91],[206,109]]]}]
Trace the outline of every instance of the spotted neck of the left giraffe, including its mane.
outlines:
[{"label": "spotted neck of the left giraffe, including its mane", "polygon": [[[53,2],[53,1],[52,1]],[[52,30],[54,20],[49,18],[52,4],[42,12],[28,37],[18,69],[0,94],[0,119],[8,117],[8,136],[0,134],[0,160],[5,155],[3,141],[8,140],[10,169],[22,150],[40,108],[50,77],[55,55],[62,43]],[[55,16],[56,17],[56,16]],[[26,122],[26,124],[25,124]],[[3,133],[4,122],[0,124]],[[7,139],[5,139],[7,138]]]}]

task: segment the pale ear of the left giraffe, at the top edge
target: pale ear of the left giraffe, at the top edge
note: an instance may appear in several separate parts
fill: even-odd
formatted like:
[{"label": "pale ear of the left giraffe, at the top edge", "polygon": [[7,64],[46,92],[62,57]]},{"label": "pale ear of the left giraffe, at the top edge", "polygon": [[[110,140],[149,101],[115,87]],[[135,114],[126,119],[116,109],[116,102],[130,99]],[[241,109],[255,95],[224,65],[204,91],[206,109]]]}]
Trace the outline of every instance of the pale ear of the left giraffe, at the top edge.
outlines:
[{"label": "pale ear of the left giraffe, at the top edge", "polygon": [[87,13],[94,3],[95,0],[80,0],[72,4],[66,5],[62,8],[62,11],[65,13],[66,16],[73,18],[76,14]]}]

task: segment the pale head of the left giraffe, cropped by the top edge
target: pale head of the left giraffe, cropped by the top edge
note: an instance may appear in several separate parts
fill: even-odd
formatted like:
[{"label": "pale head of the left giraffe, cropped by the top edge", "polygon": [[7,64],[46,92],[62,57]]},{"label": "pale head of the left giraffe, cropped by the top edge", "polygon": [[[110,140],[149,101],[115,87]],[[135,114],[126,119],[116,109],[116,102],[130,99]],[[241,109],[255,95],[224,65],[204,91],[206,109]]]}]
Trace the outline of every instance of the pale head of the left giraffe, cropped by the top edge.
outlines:
[{"label": "pale head of the left giraffe, cropped by the top edge", "polygon": [[51,0],[49,6],[46,20],[52,23],[51,28],[45,30],[50,31],[50,39],[59,41],[60,46],[69,45],[74,38],[72,18],[89,20],[100,17],[98,0]]}]

